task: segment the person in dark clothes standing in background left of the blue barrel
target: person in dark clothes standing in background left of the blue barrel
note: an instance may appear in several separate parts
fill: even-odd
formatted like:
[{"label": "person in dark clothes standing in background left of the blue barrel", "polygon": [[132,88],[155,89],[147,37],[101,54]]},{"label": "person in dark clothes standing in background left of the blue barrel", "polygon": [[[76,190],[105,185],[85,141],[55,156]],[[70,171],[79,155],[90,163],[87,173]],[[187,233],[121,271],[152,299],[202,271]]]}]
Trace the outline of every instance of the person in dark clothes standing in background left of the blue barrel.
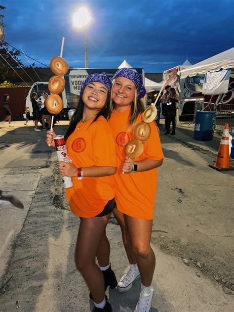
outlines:
[{"label": "person in dark clothes standing in background left of the blue barrel", "polygon": [[170,132],[170,124],[172,123],[172,132],[170,135],[175,135],[175,127],[176,127],[176,106],[179,100],[179,96],[176,93],[174,88],[169,89],[169,95],[166,99],[166,119],[165,119],[165,127],[166,133]]}]

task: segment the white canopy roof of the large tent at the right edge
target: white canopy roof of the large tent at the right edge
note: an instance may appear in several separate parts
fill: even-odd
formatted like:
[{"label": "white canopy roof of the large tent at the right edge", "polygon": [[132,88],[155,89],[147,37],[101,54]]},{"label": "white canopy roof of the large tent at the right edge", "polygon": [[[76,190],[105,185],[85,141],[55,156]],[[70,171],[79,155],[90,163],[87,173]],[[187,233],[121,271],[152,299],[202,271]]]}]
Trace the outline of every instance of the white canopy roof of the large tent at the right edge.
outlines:
[{"label": "white canopy roof of the large tent at the right edge", "polygon": [[221,68],[229,69],[232,68],[232,74],[234,74],[234,47],[207,58],[206,60],[199,62],[195,65],[190,66],[189,68],[182,69],[180,71],[180,77],[194,77],[196,75],[205,75],[208,71],[216,72]]}]

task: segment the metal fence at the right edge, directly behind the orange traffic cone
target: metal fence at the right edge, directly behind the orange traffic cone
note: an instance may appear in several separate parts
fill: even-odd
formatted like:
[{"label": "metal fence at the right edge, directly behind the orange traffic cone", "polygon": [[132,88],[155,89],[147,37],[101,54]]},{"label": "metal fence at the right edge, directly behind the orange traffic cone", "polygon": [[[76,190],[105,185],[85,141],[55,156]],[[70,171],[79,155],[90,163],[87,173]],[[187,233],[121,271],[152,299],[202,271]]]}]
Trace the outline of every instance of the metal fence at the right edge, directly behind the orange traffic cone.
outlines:
[{"label": "metal fence at the right edge, directly behind the orange traffic cone", "polygon": [[225,124],[229,124],[229,132],[232,133],[234,126],[234,104],[216,105],[215,130],[223,131]]}]

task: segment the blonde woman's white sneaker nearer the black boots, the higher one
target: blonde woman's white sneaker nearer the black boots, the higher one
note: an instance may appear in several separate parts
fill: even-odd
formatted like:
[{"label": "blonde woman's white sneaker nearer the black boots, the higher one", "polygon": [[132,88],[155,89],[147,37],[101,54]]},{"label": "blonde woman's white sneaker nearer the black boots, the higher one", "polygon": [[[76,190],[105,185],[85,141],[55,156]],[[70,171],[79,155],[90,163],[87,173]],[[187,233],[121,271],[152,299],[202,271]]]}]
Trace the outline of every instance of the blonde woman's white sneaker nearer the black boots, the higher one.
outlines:
[{"label": "blonde woman's white sneaker nearer the black boots, the higher one", "polygon": [[119,293],[125,293],[132,288],[132,282],[140,277],[141,275],[137,265],[134,265],[134,267],[128,266],[125,269],[123,276],[120,278],[120,281],[118,282],[117,291]]}]

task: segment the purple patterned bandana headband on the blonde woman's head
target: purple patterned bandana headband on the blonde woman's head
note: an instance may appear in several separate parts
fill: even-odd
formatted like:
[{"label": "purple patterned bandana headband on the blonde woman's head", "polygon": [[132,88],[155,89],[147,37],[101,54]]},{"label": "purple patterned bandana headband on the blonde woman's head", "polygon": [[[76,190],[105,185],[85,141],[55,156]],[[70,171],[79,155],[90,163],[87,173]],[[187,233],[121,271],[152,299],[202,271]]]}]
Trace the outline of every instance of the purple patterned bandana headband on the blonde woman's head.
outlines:
[{"label": "purple patterned bandana headband on the blonde woman's head", "polygon": [[139,99],[145,96],[146,89],[143,85],[143,81],[140,74],[129,68],[120,68],[117,70],[112,80],[116,79],[117,77],[124,77],[131,80],[136,86],[137,91],[139,92],[138,94]]}]

